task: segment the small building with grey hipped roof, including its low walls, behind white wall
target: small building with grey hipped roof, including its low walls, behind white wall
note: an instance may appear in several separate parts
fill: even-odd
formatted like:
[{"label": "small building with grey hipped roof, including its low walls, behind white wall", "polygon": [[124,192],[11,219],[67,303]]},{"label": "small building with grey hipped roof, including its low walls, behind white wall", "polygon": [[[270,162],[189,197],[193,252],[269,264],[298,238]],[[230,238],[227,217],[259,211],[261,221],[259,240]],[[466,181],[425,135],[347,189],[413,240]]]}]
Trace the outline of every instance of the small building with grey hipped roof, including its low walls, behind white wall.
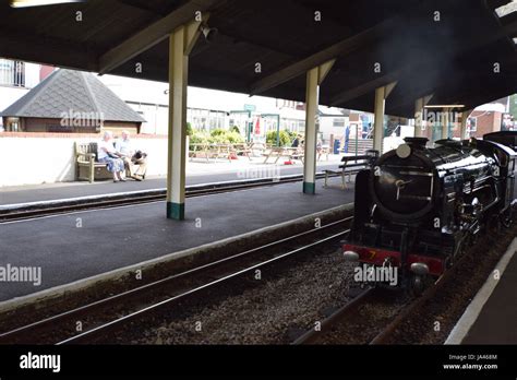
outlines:
[{"label": "small building with grey hipped roof, including its low walls, behind white wall", "polygon": [[145,119],[94,74],[60,69],[1,112],[9,132],[140,133]]}]

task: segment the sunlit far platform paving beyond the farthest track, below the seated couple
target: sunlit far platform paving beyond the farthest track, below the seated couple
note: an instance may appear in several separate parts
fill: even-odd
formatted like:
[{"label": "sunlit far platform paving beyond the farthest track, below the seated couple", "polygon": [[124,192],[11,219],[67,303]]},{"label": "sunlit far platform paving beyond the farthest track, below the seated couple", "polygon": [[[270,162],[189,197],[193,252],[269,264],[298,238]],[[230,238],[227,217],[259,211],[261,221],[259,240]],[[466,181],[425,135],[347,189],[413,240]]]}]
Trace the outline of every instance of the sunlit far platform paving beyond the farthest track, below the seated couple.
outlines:
[{"label": "sunlit far platform paving beyond the farthest track, below the seated couple", "polygon": [[[325,168],[337,168],[339,162],[322,162],[317,165],[317,170]],[[247,178],[273,177],[276,175],[302,174],[301,164],[287,165],[240,165],[231,166],[226,163],[203,164],[200,169],[191,170],[187,177],[187,186],[219,181],[230,181]],[[231,170],[231,171],[229,171]],[[279,171],[277,171],[279,170]],[[143,182],[128,180],[127,182],[113,183],[112,181],[88,182],[65,182],[48,183],[38,186],[24,186],[12,188],[0,188],[0,205],[48,201],[56,199],[67,199],[75,197],[86,197],[96,194],[107,194],[113,192],[160,189],[166,187],[165,178],[147,179]]]}]

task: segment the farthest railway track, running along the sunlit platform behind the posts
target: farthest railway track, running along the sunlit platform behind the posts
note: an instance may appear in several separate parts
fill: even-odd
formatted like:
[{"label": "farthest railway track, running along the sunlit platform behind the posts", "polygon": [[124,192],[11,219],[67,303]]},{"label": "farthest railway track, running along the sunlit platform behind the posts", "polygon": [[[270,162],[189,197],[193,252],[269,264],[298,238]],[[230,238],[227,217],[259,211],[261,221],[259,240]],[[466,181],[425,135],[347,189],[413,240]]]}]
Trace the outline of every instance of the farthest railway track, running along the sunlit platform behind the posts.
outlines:
[{"label": "farthest railway track, running along the sunlit platform behind the posts", "polygon": [[[323,173],[316,174],[316,179],[324,178]],[[193,185],[187,187],[185,197],[194,198],[211,195],[231,191],[254,189],[266,186],[298,182],[303,180],[302,175],[290,175],[278,178],[258,178],[238,181],[214,182],[204,185]],[[167,195],[166,189],[142,190],[125,193],[113,193],[84,197],[70,200],[45,201],[34,204],[20,206],[0,205],[0,224],[5,222],[15,222],[33,219],[49,215],[68,214],[85,210],[110,209],[133,204],[153,203],[164,201]]]}]

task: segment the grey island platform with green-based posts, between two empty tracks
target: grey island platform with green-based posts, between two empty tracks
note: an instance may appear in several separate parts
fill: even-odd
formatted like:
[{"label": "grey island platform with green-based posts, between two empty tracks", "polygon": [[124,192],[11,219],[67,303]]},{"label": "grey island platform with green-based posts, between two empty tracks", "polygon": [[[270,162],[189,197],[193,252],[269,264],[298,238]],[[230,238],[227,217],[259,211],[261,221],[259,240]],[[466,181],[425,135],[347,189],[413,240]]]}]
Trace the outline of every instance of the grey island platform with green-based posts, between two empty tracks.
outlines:
[{"label": "grey island platform with green-based posts, between two empty tracks", "polygon": [[190,198],[182,222],[167,219],[159,201],[0,224],[0,265],[41,271],[38,285],[0,283],[0,301],[353,202],[353,186],[342,190],[339,182],[332,178],[332,187],[323,188],[317,180],[314,195],[302,193],[301,182],[291,182]]}]

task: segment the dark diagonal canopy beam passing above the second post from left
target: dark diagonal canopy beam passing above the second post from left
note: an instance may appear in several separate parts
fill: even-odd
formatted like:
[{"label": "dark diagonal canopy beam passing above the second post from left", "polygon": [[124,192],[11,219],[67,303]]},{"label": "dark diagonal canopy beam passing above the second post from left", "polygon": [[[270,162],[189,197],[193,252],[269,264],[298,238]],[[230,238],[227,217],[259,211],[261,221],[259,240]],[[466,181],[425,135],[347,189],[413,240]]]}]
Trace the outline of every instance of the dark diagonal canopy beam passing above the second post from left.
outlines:
[{"label": "dark diagonal canopy beam passing above the second post from left", "polygon": [[269,88],[276,87],[289,80],[306,73],[311,69],[318,67],[337,57],[349,55],[366,45],[375,43],[377,39],[385,38],[386,34],[394,31],[397,24],[397,17],[389,19],[352,37],[346,38],[334,44],[326,49],[315,52],[296,63],[289,64],[277,72],[266,75],[250,86],[250,95],[257,95]]}]

